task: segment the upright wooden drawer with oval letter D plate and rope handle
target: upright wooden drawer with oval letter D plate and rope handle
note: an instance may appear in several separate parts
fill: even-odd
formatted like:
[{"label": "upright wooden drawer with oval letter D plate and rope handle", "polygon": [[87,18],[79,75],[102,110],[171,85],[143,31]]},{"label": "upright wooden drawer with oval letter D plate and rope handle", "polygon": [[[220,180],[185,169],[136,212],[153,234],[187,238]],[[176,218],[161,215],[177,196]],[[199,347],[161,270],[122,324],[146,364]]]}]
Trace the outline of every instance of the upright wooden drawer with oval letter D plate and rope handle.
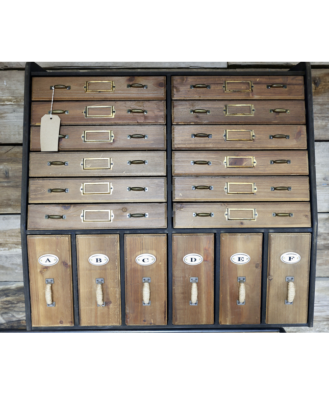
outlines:
[{"label": "upright wooden drawer with oval letter D plate and rope handle", "polygon": [[173,324],[213,324],[214,235],[173,234],[172,266]]}]

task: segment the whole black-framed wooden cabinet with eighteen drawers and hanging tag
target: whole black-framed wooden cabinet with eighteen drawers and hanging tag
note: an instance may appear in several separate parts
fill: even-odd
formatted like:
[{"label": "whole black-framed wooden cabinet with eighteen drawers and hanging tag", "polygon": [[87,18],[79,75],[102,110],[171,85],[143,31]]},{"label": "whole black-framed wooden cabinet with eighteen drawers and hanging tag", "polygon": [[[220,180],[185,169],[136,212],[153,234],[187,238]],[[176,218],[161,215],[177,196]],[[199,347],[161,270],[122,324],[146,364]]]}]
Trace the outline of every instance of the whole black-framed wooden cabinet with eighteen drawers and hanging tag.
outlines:
[{"label": "whole black-framed wooden cabinet with eighteen drawers and hanging tag", "polygon": [[21,213],[28,330],[312,326],[310,64],[27,63]]}]

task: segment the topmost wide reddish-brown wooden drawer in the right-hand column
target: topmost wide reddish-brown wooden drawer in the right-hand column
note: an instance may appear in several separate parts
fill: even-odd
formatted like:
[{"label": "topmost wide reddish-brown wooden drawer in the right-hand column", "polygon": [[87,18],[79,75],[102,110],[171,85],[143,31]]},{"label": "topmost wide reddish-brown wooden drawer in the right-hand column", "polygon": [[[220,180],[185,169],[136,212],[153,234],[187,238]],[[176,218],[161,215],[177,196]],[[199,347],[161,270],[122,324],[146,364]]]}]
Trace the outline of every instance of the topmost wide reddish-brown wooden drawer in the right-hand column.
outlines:
[{"label": "topmost wide reddish-brown wooden drawer in the right-hand column", "polygon": [[302,76],[172,77],[173,99],[303,99]]}]

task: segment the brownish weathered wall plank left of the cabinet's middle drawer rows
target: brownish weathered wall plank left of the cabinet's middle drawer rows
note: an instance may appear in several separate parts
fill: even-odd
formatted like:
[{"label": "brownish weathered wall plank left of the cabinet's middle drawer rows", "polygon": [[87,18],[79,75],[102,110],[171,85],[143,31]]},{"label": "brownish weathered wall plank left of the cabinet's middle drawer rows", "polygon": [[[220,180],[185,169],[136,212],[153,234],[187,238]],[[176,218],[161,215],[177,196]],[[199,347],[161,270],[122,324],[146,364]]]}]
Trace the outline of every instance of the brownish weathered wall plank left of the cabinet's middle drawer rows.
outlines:
[{"label": "brownish weathered wall plank left of the cabinet's middle drawer rows", "polygon": [[0,213],[20,213],[22,147],[0,146]]}]

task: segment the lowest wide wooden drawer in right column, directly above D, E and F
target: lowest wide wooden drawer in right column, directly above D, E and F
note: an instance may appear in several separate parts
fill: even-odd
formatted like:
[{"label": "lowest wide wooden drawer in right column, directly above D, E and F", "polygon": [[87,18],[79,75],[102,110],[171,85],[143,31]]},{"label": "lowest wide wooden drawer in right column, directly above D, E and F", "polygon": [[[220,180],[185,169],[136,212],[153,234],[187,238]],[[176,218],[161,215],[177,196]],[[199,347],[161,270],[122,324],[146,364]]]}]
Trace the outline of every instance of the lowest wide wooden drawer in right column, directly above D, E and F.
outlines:
[{"label": "lowest wide wooden drawer in right column, directly above D, E and F", "polygon": [[174,203],[173,211],[174,228],[311,226],[309,203]]}]

